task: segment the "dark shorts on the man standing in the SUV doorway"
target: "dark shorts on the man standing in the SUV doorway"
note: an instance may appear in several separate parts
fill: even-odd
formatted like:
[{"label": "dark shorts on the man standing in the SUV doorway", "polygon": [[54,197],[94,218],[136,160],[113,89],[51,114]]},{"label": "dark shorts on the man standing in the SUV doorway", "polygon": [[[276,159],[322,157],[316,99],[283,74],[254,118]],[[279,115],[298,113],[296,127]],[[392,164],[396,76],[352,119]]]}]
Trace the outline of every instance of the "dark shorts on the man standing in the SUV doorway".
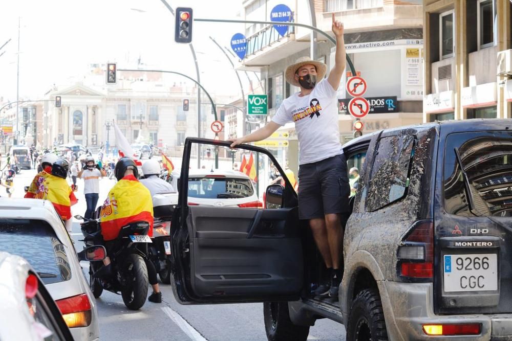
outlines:
[{"label": "dark shorts on the man standing in the SUV doorway", "polygon": [[344,154],[298,169],[298,217],[323,218],[330,213],[350,212],[350,186]]}]

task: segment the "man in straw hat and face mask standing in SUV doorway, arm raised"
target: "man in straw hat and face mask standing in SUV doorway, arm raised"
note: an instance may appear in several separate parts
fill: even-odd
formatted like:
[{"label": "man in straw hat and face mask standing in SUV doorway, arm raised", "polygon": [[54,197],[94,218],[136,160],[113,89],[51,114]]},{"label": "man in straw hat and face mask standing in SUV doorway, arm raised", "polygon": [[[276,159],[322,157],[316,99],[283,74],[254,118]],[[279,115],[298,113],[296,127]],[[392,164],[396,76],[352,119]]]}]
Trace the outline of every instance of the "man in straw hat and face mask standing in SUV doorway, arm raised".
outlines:
[{"label": "man in straw hat and face mask standing in SUV doorway, arm raised", "polygon": [[[336,89],[345,70],[343,24],[332,14],[332,32],[336,36],[334,66],[327,79],[327,65],[301,57],[286,69],[286,81],[300,86],[301,92],[283,101],[272,121],[239,139],[231,147],[268,138],[280,126],[295,123],[299,148],[298,214],[309,220],[316,245],[330,275],[320,281],[315,295],[337,298],[342,279],[344,225],[350,208],[347,160],[339,143],[338,99]],[[330,283],[329,283],[330,282]]]}]

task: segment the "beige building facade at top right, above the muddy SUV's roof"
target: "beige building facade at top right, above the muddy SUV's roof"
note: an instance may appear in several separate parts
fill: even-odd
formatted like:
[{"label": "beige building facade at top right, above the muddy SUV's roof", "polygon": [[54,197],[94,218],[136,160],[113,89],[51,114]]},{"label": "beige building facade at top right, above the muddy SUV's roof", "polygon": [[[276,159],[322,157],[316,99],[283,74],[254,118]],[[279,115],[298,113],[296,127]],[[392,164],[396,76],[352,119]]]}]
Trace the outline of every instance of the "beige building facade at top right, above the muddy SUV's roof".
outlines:
[{"label": "beige building facade at top right, above the muddy SUV's roof", "polygon": [[511,117],[511,8],[503,0],[424,1],[425,122]]}]

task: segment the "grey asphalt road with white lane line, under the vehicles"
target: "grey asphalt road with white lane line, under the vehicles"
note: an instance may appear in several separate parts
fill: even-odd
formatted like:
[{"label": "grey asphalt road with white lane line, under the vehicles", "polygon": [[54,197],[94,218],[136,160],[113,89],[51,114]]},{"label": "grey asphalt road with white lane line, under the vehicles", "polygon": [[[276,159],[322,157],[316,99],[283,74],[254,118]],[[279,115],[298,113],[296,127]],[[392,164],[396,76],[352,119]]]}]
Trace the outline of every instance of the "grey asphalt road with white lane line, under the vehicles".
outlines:
[{"label": "grey asphalt road with white lane line, under the vehicles", "polygon": [[[13,197],[24,196],[24,186],[28,186],[35,170],[24,170],[15,177]],[[83,195],[83,181],[78,180],[78,203],[73,206],[73,214],[83,215],[86,202]],[[110,188],[113,180],[100,180],[98,205]],[[5,197],[5,188],[0,188],[0,195]],[[72,237],[76,248],[81,249],[82,239],[79,221],[74,219]],[[81,262],[86,274],[88,263]],[[183,306],[176,302],[169,285],[160,286],[163,302],[155,304],[146,302],[139,311],[128,310],[120,295],[103,291],[97,299],[100,316],[100,338],[102,340],[136,341],[136,340],[176,340],[176,341],[225,341],[225,340],[266,340],[263,322],[263,304],[222,304]],[[151,289],[148,290],[151,293]],[[333,321],[318,320],[311,327],[310,340],[340,341],[345,340],[344,326]]]}]

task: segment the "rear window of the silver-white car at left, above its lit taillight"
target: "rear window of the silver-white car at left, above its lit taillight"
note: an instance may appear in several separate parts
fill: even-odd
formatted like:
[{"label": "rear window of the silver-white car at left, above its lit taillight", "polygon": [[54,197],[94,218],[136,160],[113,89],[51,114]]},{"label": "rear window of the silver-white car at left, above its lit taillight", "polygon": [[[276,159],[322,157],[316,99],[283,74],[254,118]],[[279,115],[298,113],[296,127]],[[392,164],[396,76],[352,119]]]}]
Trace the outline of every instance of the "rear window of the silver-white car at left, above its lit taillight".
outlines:
[{"label": "rear window of the silver-white car at left, above its lit taillight", "polygon": [[44,220],[0,219],[0,250],[25,258],[45,284],[71,279],[65,246]]}]

